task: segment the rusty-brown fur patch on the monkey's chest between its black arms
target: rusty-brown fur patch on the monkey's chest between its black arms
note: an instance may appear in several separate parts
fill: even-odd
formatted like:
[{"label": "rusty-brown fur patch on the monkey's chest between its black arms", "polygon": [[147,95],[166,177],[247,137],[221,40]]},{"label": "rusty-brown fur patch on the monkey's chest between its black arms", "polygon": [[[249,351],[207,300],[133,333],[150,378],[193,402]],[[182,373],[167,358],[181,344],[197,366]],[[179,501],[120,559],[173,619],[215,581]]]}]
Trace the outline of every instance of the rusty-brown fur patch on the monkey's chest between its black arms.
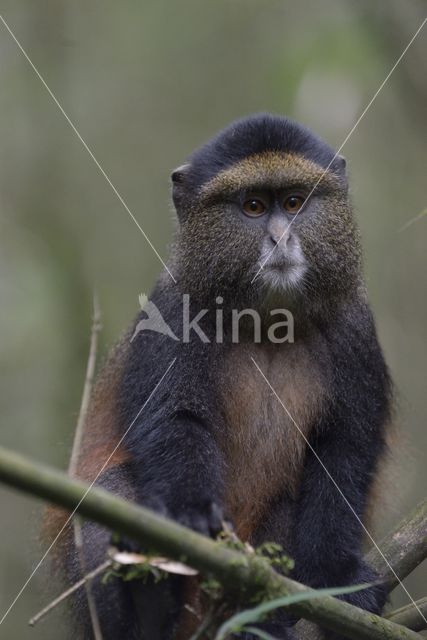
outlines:
[{"label": "rusty-brown fur patch on the monkey's chest between its black arms", "polygon": [[327,383],[303,343],[234,345],[223,382],[226,507],[247,539],[269,502],[296,495]]}]

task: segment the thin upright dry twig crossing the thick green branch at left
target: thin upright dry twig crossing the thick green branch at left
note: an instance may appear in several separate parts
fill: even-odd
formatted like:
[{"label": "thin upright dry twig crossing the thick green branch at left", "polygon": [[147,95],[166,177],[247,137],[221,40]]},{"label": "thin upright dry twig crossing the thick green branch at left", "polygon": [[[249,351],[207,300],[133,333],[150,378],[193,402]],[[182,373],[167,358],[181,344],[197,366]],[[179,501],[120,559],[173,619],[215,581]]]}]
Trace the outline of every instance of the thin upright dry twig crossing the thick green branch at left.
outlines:
[{"label": "thin upright dry twig crossing the thick green branch at left", "polygon": [[[80,411],[79,417],[77,420],[76,431],[74,434],[74,442],[73,448],[71,451],[70,464],[68,467],[68,473],[70,476],[75,476],[78,468],[78,460],[81,451],[81,445],[83,441],[86,419],[89,410],[90,398],[92,395],[92,387],[93,381],[95,377],[95,369],[96,369],[96,356],[98,351],[98,336],[101,331],[101,310],[99,307],[98,296],[96,292],[93,294],[93,316],[92,316],[92,330],[90,336],[90,348],[89,348],[89,356],[86,366],[86,376],[85,376],[85,384],[83,387],[82,400],[80,403]],[[74,529],[74,544],[76,548],[76,553],[79,558],[80,568],[82,573],[86,571],[86,559],[84,555],[84,547],[83,547],[83,532],[80,518],[75,516],[73,519],[73,529]],[[99,622],[98,612],[96,610],[96,602],[93,597],[91,581],[85,581],[85,591],[86,591],[86,599],[87,605],[89,609],[89,615],[92,625],[92,631],[95,640],[102,640],[102,631],[101,625]]]}]

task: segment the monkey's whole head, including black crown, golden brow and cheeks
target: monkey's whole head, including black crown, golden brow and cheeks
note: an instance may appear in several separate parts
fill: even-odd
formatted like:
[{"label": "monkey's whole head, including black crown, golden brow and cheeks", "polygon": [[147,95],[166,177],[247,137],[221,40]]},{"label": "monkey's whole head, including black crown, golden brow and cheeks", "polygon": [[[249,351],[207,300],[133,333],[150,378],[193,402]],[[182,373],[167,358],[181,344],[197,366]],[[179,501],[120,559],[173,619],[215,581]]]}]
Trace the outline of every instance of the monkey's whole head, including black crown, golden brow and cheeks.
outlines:
[{"label": "monkey's whole head, including black crown, golden brow and cheeks", "polygon": [[360,283],[345,161],[283,117],[239,120],[172,174],[183,292],[262,306],[332,303]]}]

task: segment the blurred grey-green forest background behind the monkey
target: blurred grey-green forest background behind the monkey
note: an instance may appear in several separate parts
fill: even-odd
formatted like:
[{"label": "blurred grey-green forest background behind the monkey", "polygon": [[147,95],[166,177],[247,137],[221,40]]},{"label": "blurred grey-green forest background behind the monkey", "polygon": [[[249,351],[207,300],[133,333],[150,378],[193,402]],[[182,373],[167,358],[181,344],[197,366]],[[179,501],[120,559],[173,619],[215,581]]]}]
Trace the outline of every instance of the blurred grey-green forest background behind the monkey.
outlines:
[{"label": "blurred grey-green forest background behind the monkey", "polygon": [[[421,24],[424,2],[2,0],[1,14],[160,254],[169,174],[230,120],[287,114],[336,147]],[[377,539],[426,492],[427,27],[346,144],[366,277],[406,444]],[[1,444],[65,468],[96,286],[105,353],[161,264],[0,22]],[[3,614],[44,549],[41,503],[0,487]],[[38,572],[2,638],[65,638]],[[425,566],[405,581],[425,596]],[[396,605],[407,603],[401,589]]]}]

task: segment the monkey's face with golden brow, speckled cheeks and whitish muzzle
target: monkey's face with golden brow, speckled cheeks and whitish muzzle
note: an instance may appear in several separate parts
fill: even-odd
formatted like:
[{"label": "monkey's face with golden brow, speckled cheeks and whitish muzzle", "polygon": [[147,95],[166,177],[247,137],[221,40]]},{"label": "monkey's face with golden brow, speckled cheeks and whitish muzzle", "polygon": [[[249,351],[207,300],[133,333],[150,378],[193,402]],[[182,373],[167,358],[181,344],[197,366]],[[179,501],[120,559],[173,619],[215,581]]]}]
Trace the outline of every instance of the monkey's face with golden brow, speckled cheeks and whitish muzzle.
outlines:
[{"label": "monkey's face with golden brow, speckled cheeks and whitish muzzle", "polygon": [[187,293],[253,306],[274,294],[306,306],[354,284],[360,251],[346,187],[329,174],[313,192],[321,167],[275,155],[218,174],[186,209],[178,247]]}]

